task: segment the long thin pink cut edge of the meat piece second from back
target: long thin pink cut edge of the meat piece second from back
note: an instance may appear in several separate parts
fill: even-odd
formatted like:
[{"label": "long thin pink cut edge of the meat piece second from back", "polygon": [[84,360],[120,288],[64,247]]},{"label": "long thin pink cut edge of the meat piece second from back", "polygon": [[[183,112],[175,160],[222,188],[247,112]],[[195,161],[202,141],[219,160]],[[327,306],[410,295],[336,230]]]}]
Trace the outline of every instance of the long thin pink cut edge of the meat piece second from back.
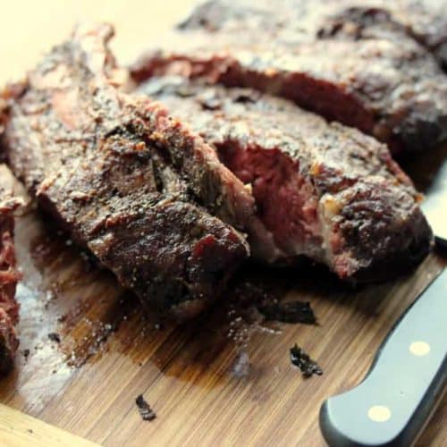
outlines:
[{"label": "long thin pink cut edge of the meat piece second from back", "polygon": [[[206,78],[209,82],[222,82],[227,87],[250,87],[273,95],[286,97],[329,121],[343,122],[360,131],[375,133],[375,115],[342,83],[318,79],[307,72],[265,72],[250,70],[229,56],[194,58],[172,55],[159,58],[153,55],[135,67],[135,80],[150,76],[178,74],[190,79]],[[382,130],[378,138],[392,140]]]}]

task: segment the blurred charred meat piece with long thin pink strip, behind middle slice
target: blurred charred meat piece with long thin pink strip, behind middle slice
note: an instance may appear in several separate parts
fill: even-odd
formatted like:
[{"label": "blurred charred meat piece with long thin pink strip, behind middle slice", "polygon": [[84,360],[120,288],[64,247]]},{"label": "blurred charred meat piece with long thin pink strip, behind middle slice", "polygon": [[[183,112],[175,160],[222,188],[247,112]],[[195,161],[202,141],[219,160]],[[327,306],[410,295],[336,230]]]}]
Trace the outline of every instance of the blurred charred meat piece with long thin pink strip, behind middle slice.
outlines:
[{"label": "blurred charred meat piece with long thin pink strip, behind middle slice", "polygon": [[394,151],[425,149],[447,137],[447,77],[401,27],[360,14],[363,21],[354,31],[332,30],[334,19],[327,19],[318,38],[308,21],[291,27],[293,21],[282,13],[233,16],[240,32],[233,21],[212,36],[209,30],[183,31],[173,38],[172,50],[143,55],[133,67],[134,78],[181,74],[259,89],[357,127]]}]

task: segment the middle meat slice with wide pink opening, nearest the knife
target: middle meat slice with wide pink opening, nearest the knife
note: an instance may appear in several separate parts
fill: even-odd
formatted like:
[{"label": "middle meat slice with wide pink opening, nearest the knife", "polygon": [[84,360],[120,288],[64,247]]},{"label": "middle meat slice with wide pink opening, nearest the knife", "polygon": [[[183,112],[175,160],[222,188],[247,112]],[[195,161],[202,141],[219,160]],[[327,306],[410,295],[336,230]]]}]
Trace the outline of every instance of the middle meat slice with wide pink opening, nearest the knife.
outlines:
[{"label": "middle meat slice with wide pink opening, nearest the knife", "polygon": [[420,197],[375,139],[253,89],[164,77],[139,91],[190,122],[253,190],[255,256],[306,256],[358,281],[395,275],[426,256],[432,235]]}]

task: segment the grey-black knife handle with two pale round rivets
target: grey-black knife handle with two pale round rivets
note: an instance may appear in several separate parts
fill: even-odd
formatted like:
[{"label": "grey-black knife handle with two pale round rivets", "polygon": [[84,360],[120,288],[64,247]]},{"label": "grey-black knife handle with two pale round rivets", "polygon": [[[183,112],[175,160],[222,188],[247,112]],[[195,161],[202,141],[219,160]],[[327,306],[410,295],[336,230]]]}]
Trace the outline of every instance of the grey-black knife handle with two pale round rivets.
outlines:
[{"label": "grey-black knife handle with two pale round rivets", "polygon": [[367,376],[320,410],[325,441],[338,446],[409,446],[446,384],[447,269],[386,336]]}]

